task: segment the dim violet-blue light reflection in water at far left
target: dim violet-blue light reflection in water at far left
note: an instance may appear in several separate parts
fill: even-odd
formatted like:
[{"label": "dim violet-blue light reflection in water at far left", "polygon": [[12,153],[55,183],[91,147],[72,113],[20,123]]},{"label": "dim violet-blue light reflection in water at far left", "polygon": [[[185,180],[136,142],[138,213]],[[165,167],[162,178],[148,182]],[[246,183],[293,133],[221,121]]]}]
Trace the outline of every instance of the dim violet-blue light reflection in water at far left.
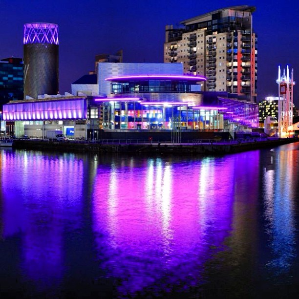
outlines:
[{"label": "dim violet-blue light reflection in water at far left", "polygon": [[[12,183],[16,168],[22,169],[22,175],[15,175]],[[1,186],[5,186],[1,190],[2,236],[21,236],[20,271],[24,279],[33,281],[39,290],[54,288],[64,275],[65,227],[79,227],[82,205],[78,199],[83,196],[83,185],[78,173],[83,172],[83,163],[74,161],[73,156],[5,152],[1,154],[1,170]]]}]

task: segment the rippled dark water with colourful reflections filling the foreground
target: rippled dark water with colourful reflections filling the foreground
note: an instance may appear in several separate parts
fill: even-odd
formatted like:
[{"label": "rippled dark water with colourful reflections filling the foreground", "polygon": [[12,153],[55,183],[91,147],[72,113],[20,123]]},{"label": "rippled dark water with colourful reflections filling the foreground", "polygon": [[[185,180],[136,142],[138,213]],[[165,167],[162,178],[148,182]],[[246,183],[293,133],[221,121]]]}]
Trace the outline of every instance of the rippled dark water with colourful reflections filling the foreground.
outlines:
[{"label": "rippled dark water with colourful reflections filling the foreground", "polygon": [[0,298],[292,298],[299,143],[220,157],[0,149]]}]

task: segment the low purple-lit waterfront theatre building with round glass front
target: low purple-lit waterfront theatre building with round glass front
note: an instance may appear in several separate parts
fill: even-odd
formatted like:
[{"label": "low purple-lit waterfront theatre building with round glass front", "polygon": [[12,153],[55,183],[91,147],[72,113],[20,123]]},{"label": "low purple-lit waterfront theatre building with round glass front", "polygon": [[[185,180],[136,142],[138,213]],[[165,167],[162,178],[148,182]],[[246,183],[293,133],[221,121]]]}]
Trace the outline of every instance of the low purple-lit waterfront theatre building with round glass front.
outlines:
[{"label": "low purple-lit waterfront theatre building with round glass front", "polygon": [[125,138],[129,131],[234,132],[257,127],[255,103],[230,98],[227,92],[201,91],[206,78],[183,74],[181,68],[98,64],[97,75],[83,76],[72,85],[74,95],[12,101],[3,107],[3,119],[16,121],[17,136],[41,138],[53,129],[70,138],[92,139],[100,131],[123,133],[118,138]]}]

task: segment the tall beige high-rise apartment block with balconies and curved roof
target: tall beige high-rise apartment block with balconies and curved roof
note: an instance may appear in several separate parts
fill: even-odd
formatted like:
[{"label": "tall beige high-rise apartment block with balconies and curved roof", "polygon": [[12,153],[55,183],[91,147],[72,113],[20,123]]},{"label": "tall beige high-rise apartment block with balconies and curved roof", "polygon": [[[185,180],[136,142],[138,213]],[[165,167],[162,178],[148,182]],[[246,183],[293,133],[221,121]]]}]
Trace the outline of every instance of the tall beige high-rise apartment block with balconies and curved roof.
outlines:
[{"label": "tall beige high-rise apartment block with balconies and curved roof", "polygon": [[206,91],[227,91],[256,102],[257,38],[253,6],[232,6],[166,26],[164,62],[204,75]]}]

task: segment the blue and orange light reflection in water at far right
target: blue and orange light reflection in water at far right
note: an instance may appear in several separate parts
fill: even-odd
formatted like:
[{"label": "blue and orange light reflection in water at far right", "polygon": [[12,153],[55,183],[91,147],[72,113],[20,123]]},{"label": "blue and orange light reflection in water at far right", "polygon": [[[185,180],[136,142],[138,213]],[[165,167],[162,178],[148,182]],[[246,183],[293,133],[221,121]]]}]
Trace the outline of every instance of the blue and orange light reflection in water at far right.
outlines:
[{"label": "blue and orange light reflection in water at far right", "polygon": [[267,168],[263,176],[266,232],[272,248],[266,266],[271,276],[279,281],[281,275],[289,273],[296,256],[294,201],[297,194],[292,184],[296,182],[294,165],[298,165],[298,155],[294,150],[283,149],[272,154],[275,155],[275,170]]}]

